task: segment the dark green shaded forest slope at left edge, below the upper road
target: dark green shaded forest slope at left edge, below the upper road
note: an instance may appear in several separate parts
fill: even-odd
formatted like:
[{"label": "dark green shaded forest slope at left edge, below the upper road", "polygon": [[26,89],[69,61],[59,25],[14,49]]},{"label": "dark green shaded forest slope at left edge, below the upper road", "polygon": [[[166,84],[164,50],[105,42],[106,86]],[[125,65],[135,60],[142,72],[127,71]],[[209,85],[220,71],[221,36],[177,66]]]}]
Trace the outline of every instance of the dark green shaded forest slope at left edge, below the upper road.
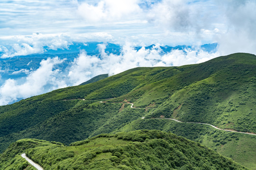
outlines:
[{"label": "dark green shaded forest slope at left edge, below the upper road", "polygon": [[1,108],[6,110],[0,114],[0,137],[40,124],[44,119],[72,108],[76,103],[77,101],[18,102],[12,104],[12,109],[9,109],[12,105],[2,106]]}]

